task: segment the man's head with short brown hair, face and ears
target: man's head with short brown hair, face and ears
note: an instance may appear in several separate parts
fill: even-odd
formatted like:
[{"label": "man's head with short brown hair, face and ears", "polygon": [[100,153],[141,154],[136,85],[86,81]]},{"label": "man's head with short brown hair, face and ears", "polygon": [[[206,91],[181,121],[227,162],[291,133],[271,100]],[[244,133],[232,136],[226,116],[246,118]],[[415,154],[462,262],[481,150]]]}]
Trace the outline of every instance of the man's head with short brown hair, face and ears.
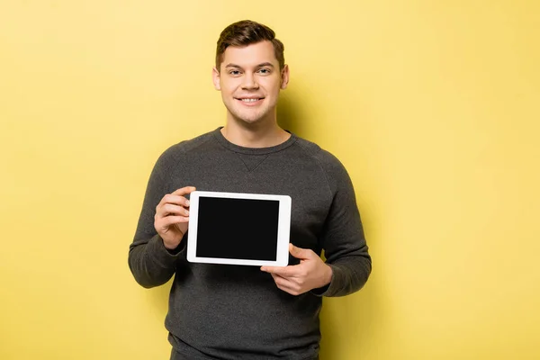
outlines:
[{"label": "man's head with short brown hair, face and ears", "polygon": [[275,39],[272,29],[246,20],[221,31],[213,82],[221,91],[228,120],[275,121],[279,91],[288,81],[284,44]]}]

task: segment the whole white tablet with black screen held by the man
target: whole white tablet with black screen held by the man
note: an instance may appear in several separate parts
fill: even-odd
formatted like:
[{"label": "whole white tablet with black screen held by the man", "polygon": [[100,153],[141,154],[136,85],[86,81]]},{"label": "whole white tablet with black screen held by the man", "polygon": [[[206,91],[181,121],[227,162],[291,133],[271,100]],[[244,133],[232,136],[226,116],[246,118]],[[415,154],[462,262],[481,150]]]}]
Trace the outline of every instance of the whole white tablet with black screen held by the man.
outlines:
[{"label": "whole white tablet with black screen held by the man", "polygon": [[288,265],[290,196],[194,191],[189,202],[188,261]]}]

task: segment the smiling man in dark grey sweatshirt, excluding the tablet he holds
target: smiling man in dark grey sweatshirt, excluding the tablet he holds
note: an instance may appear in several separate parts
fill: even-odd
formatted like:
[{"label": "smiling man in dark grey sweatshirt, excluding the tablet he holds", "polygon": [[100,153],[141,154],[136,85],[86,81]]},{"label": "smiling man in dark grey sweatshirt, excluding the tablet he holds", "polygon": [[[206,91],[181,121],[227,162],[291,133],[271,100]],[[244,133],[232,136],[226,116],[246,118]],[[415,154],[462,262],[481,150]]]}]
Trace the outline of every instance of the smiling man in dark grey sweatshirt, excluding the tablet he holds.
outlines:
[{"label": "smiling man in dark grey sweatshirt, excluding the tablet he holds", "polygon": [[[175,275],[166,316],[171,359],[317,359],[322,296],[356,292],[371,273],[346,169],[277,125],[278,95],[288,82],[274,31],[251,21],[229,25],[213,69],[225,126],[168,148],[150,175],[129,264],[148,288]],[[188,263],[195,188],[290,195],[290,265]],[[221,236],[227,242],[234,229]]]}]

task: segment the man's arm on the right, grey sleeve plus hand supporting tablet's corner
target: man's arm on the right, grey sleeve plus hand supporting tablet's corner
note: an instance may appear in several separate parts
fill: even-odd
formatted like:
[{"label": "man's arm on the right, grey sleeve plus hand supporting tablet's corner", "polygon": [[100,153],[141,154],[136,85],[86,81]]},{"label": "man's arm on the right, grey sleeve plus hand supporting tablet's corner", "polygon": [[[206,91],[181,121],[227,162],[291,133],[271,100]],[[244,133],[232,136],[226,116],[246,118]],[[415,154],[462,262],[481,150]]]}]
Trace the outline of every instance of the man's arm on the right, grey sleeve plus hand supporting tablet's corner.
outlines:
[{"label": "man's arm on the right, grey sleeve plus hand supporting tablet's corner", "polygon": [[353,184],[336,157],[330,155],[326,160],[321,163],[332,201],[320,235],[326,264],[311,249],[291,246],[291,255],[300,259],[299,265],[261,267],[272,275],[278,288],[293,295],[311,291],[318,296],[344,296],[360,290],[371,274]]}]

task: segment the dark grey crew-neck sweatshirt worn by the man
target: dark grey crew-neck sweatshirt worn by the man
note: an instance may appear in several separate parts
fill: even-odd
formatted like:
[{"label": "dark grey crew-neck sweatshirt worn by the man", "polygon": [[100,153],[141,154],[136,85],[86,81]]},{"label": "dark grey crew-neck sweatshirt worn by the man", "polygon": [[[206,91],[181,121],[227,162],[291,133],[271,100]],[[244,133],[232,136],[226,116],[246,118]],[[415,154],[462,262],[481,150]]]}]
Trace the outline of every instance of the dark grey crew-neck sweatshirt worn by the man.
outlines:
[{"label": "dark grey crew-neck sweatshirt worn by the man", "polygon": [[[201,191],[290,195],[291,242],[324,250],[332,280],[293,296],[277,288],[258,266],[189,263],[186,236],[167,250],[154,229],[157,203],[184,186]],[[227,241],[233,229],[223,229]],[[299,261],[290,257],[289,265]],[[338,159],[292,134],[271,148],[243,148],[220,129],[168,148],[148,181],[129,254],[135,280],[150,288],[173,275],[166,329],[175,359],[317,358],[321,296],[359,290],[371,257],[353,185]]]}]

